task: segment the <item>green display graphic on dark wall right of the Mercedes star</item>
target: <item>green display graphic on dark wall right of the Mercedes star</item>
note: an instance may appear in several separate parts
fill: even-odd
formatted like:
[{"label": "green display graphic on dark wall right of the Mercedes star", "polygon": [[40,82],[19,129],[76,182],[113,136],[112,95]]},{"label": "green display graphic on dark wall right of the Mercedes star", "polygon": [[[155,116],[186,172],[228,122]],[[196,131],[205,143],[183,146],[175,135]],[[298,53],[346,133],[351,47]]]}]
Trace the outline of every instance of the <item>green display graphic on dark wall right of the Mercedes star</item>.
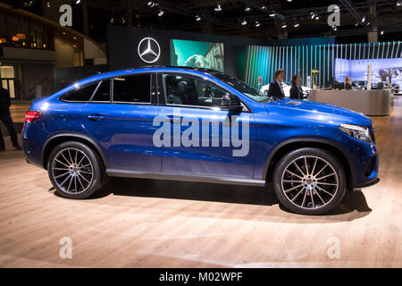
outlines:
[{"label": "green display graphic on dark wall right of the Mercedes star", "polygon": [[172,39],[171,65],[224,71],[223,44]]}]

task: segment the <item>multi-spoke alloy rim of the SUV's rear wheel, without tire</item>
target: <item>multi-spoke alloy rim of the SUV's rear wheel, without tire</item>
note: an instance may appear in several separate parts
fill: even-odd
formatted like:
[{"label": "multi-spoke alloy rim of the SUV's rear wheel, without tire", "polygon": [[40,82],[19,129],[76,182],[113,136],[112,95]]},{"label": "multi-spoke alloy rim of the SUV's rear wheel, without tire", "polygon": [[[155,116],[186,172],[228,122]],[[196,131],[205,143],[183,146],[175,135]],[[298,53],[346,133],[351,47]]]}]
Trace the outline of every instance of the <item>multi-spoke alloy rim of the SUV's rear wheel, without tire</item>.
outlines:
[{"label": "multi-spoke alloy rim of the SUV's rear wheel, without tire", "polygon": [[65,193],[76,195],[86,191],[94,180],[93,170],[88,156],[79,149],[65,148],[54,156],[54,181]]}]

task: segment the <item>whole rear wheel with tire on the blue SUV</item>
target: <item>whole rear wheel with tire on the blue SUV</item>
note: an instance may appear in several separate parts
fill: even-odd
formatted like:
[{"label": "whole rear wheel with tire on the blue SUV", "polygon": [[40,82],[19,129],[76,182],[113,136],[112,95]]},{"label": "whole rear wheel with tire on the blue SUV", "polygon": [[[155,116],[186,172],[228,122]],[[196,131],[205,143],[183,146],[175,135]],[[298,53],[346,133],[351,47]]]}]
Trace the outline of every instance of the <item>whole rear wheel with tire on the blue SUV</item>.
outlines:
[{"label": "whole rear wheel with tire on the blue SUV", "polygon": [[96,151],[80,142],[64,142],[52,150],[47,173],[64,198],[88,198],[105,181],[105,167]]}]

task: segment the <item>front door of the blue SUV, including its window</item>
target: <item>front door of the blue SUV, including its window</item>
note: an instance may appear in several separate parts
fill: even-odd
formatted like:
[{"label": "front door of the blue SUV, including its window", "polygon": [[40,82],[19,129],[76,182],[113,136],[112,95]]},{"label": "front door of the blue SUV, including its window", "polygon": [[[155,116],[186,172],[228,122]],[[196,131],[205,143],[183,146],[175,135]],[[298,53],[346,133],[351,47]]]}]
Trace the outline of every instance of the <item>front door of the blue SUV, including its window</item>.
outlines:
[{"label": "front door of the blue SUV, including its window", "polygon": [[[246,106],[239,114],[222,110],[222,96],[228,92],[188,73],[158,73],[158,91],[164,95],[158,116],[171,131],[163,141],[163,172],[253,177],[256,129]],[[163,128],[162,123],[157,126]]]}]

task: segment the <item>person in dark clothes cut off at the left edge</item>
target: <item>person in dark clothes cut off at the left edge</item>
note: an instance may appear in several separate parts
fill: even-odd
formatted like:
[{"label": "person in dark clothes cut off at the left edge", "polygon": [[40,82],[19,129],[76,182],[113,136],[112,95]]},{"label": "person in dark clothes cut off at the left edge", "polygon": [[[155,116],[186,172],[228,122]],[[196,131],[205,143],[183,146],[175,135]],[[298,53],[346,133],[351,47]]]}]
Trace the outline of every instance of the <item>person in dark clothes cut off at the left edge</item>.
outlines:
[{"label": "person in dark clothes cut off at the left edge", "polygon": [[[15,132],[13,119],[11,118],[10,114],[10,105],[11,105],[11,98],[10,93],[7,89],[0,87],[0,121],[2,121],[7,127],[8,132],[10,133],[10,137],[13,142],[13,147],[17,150],[21,150],[21,146],[18,143],[17,132]],[[5,150],[5,144],[3,139],[3,134],[0,129],[0,151]]]}]

